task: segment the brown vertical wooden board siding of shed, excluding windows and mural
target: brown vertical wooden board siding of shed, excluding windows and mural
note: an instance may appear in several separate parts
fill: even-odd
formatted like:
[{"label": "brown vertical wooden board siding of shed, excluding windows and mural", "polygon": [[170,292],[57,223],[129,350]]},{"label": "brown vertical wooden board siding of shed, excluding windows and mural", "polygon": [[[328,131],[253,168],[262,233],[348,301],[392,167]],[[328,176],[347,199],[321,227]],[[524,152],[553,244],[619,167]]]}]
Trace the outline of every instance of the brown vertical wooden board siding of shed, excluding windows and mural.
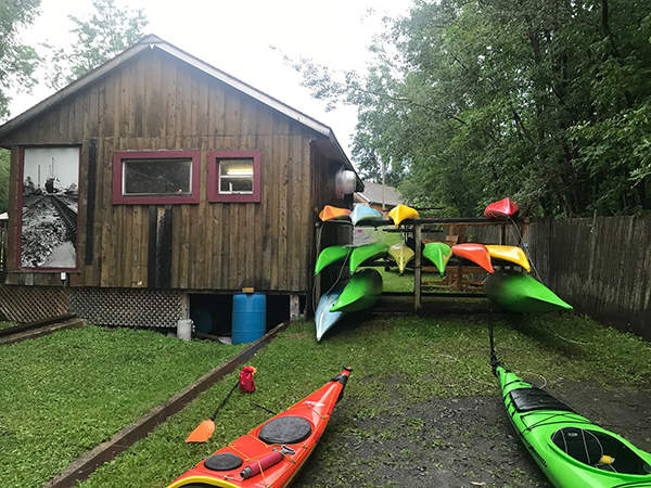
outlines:
[{"label": "brown vertical wooden board siding of shed, excluding windows and mural", "polygon": [[[319,138],[176,57],[148,50],[0,142],[13,146],[14,216],[18,146],[81,145],[73,286],[305,293],[315,208],[324,202],[329,170],[328,160],[311,155],[310,141]],[[197,205],[112,203],[113,153],[150,150],[201,151]],[[208,203],[212,150],[260,150],[260,203]],[[18,283],[25,273],[15,272],[13,223],[8,282]],[[35,284],[51,281],[51,273],[34,274]]]}]

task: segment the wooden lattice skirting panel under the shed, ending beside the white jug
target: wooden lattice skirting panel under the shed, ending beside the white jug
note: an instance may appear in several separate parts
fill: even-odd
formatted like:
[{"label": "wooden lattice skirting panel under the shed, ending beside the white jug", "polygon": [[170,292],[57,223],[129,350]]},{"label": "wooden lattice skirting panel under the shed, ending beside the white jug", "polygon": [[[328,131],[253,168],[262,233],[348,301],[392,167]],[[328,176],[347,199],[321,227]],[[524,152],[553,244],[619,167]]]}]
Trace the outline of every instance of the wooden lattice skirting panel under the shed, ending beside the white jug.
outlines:
[{"label": "wooden lattice skirting panel under the shed, ending beside the white jug", "polygon": [[71,311],[97,325],[176,328],[189,318],[187,295],[173,290],[71,288]]}]

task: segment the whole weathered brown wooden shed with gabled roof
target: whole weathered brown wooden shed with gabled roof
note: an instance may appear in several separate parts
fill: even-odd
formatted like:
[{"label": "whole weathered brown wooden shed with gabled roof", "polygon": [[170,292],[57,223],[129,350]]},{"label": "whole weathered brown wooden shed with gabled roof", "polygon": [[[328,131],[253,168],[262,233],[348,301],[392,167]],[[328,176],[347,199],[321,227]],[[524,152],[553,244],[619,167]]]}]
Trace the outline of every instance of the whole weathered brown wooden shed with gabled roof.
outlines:
[{"label": "whole weathered brown wooden shed with gabled roof", "polygon": [[156,36],[0,126],[0,298],[63,290],[103,324],[176,326],[193,300],[224,317],[243,287],[309,313],[317,245],[349,239],[317,243],[318,213],[363,189],[329,127]]}]

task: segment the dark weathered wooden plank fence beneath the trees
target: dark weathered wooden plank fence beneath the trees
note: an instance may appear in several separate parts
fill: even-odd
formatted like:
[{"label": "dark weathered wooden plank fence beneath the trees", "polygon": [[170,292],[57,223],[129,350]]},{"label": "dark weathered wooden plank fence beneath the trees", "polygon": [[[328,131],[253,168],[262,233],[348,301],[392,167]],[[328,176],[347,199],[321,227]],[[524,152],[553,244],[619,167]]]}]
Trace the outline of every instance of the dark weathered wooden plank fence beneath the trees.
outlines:
[{"label": "dark weathered wooden plank fence beneath the trees", "polygon": [[651,341],[651,216],[535,221],[527,242],[534,275],[576,312]]}]

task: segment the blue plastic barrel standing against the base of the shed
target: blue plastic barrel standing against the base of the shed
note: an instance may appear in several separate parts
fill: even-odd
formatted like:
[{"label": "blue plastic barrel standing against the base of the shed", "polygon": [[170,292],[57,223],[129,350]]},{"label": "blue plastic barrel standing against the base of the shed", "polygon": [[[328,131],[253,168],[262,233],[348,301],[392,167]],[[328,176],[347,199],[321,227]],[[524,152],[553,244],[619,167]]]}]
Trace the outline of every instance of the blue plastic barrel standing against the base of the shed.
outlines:
[{"label": "blue plastic barrel standing against the base of the shed", "polygon": [[233,344],[252,343],[267,332],[267,296],[264,293],[233,295]]}]

